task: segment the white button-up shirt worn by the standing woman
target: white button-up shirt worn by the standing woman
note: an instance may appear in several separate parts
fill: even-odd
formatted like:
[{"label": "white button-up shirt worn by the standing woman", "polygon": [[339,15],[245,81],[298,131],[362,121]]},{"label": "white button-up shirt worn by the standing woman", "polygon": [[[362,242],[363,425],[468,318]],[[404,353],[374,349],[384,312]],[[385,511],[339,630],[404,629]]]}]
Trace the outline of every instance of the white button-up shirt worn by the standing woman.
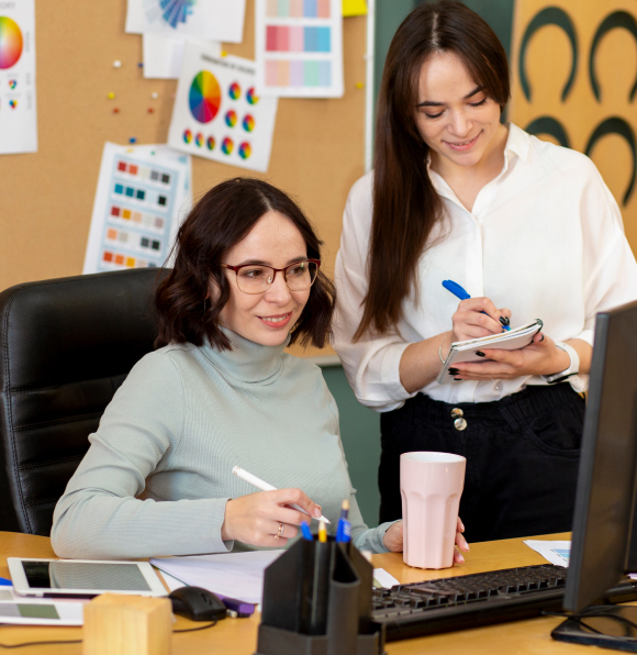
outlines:
[{"label": "white button-up shirt worn by the standing woman", "polygon": [[[438,174],[429,175],[447,219],[420,259],[420,301],[403,301],[398,333],[366,335],[358,343],[351,337],[368,288],[373,173],[359,179],[347,199],[336,258],[334,347],[362,404],[390,411],[418,391],[449,403],[489,402],[526,385],[546,384],[537,376],[451,385],[434,380],[409,393],[399,376],[404,349],[451,329],[459,300],[443,280],[509,308],[512,328],[541,319],[554,340],[581,338],[591,345],[595,313],[637,299],[637,264],[619,208],[586,156],[510,123],[504,167],[480,190],[471,211]],[[569,382],[583,391],[588,376]]]}]

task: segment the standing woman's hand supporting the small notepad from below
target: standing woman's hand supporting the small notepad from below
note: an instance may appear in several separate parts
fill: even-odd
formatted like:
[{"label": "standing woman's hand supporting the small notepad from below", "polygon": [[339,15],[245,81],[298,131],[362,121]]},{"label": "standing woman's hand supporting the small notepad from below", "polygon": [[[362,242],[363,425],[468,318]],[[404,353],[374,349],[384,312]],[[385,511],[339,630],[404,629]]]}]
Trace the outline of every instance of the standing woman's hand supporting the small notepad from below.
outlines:
[{"label": "standing woman's hand supporting the small notepad from below", "polygon": [[[551,375],[569,367],[570,357],[546,334],[536,334],[533,343],[518,351],[483,348],[492,362],[463,362],[454,365],[454,378],[462,380],[510,380],[524,375]],[[458,373],[456,373],[456,370]]]}]

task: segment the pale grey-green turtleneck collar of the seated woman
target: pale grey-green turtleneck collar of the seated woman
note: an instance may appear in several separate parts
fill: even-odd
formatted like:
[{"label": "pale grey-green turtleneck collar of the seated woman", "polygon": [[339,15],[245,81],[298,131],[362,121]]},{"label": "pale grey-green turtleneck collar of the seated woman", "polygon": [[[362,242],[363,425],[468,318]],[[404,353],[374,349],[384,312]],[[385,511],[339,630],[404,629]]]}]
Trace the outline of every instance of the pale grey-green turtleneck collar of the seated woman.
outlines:
[{"label": "pale grey-green turtleneck collar of the seated woman", "polygon": [[244,382],[271,384],[283,367],[281,356],[290,343],[290,335],[278,346],[264,346],[221,328],[232,344],[232,351],[217,351],[210,343],[201,346],[201,352],[215,368]]}]

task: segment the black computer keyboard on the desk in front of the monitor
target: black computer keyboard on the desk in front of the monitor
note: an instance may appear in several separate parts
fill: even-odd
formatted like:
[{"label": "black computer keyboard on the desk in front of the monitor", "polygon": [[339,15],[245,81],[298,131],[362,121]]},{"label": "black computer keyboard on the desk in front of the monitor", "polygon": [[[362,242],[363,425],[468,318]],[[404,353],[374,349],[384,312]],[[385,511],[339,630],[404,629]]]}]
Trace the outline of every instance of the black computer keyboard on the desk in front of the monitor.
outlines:
[{"label": "black computer keyboard on the desk in front of the monitor", "polygon": [[[372,620],[385,626],[391,642],[560,611],[567,570],[540,564],[375,589]],[[636,595],[637,584],[627,580],[606,598]]]}]

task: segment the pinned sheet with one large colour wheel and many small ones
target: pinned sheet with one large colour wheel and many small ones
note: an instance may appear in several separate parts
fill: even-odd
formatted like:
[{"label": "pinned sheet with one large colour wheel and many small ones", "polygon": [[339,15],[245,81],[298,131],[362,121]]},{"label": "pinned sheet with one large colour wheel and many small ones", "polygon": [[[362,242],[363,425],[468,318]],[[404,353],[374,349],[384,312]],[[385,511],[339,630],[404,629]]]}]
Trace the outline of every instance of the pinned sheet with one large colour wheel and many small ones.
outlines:
[{"label": "pinned sheet with one large colour wheel and many small ones", "polygon": [[249,59],[187,43],[168,145],[191,155],[266,173],[277,99],[259,98]]}]

